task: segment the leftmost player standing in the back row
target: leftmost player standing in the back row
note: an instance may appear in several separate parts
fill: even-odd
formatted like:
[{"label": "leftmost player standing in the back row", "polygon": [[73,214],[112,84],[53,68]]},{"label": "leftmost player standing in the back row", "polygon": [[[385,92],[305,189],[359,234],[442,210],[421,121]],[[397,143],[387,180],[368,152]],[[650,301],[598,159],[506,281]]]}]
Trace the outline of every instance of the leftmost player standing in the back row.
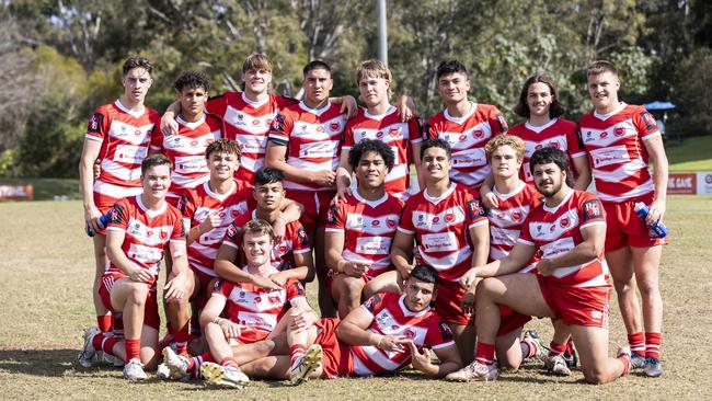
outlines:
[{"label": "leftmost player standing in the back row", "polygon": [[[83,198],[84,227],[94,233],[94,285],[92,296],[99,329],[112,329],[111,313],[99,296],[106,266],[106,233],[100,217],[120,198],[141,193],[140,165],[156,135],[159,115],[143,105],[153,79],[148,59],[133,56],[122,68],[124,93],[115,102],[96,108],[87,128],[79,160],[79,185]],[[101,173],[94,181],[94,162]]]}]

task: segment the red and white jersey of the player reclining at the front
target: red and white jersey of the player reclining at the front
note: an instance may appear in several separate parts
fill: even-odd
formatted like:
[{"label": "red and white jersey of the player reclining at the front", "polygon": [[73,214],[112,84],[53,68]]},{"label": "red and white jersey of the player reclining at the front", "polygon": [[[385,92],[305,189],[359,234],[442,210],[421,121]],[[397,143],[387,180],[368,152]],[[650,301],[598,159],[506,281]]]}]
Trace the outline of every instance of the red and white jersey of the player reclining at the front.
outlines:
[{"label": "red and white jersey of the player reclining at the front", "polygon": [[[404,335],[415,346],[432,350],[455,345],[450,326],[430,307],[412,312],[403,302],[405,295],[382,293],[370,297],[361,309],[374,317],[366,329],[381,335]],[[389,352],[372,345],[351,345],[353,373],[356,376],[372,376],[402,369],[411,363],[411,352]]]}]

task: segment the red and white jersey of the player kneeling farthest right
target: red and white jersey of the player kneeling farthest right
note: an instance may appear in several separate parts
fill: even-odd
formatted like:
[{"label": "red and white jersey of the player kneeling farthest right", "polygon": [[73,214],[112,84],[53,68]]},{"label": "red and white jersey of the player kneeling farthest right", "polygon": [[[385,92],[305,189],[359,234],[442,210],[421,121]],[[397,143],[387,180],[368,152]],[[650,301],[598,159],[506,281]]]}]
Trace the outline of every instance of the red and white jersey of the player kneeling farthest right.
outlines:
[{"label": "red and white jersey of the player kneeling farthest right", "polygon": [[[600,200],[588,192],[570,190],[556,207],[550,208],[542,203],[533,209],[527,216],[517,241],[536,247],[541,251],[542,259],[552,257],[584,242],[581,230],[593,225],[606,226]],[[604,251],[588,263],[556,268],[546,279],[572,287],[606,286],[608,265]]]}]

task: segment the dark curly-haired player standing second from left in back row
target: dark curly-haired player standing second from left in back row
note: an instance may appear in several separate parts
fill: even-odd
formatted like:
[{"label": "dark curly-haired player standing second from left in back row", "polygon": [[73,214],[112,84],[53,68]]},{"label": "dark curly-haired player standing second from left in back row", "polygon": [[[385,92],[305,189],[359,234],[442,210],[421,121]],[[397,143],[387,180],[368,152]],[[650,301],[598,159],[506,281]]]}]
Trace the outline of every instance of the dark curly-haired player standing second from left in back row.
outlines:
[{"label": "dark curly-haired player standing second from left in back row", "polygon": [[163,152],[173,163],[166,199],[177,205],[186,191],[210,179],[205,150],[222,137],[222,122],[205,111],[210,82],[203,72],[183,71],[173,87],[181,104],[181,113],[175,117],[177,134],[166,136],[159,130],[151,139],[151,151]]}]

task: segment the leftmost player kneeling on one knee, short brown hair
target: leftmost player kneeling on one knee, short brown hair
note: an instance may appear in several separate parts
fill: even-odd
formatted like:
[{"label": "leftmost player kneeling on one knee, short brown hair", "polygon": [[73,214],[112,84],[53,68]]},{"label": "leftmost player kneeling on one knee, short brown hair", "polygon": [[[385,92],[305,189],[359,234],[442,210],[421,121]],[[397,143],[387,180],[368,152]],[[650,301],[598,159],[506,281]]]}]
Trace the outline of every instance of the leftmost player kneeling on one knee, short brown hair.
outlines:
[{"label": "leftmost player kneeling on one knee, short brown hair", "polygon": [[[187,307],[193,279],[187,265],[181,213],[165,202],[171,185],[171,162],[153,154],[141,162],[143,193],[118,200],[110,211],[106,236],[108,267],[99,294],[114,316],[114,334],[89,329],[78,359],[91,366],[96,351],[126,360],[124,377],[146,379],[143,367],[153,367],[158,355],[157,279],[169,247],[173,270],[163,288],[169,316]],[[123,323],[123,335],[120,340]]]}]

